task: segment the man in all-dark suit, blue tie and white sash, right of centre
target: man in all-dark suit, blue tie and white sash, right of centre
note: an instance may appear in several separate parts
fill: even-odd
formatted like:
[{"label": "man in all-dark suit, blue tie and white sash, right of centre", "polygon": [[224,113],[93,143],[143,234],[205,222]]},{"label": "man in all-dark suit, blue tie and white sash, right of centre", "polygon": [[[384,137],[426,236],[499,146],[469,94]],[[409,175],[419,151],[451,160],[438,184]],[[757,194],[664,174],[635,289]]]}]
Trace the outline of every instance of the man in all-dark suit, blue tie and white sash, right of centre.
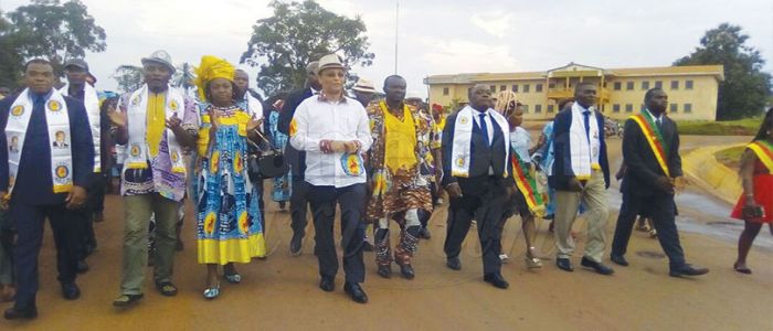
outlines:
[{"label": "man in all-dark suit, blue tie and white sash, right of centre", "polygon": [[[443,130],[442,184],[451,197],[444,250],[448,268],[462,269],[462,243],[475,218],[483,250],[484,280],[505,289],[509,284],[501,276],[499,254],[505,203],[513,193],[512,173],[507,162],[509,127],[507,120],[490,108],[490,97],[488,87],[474,86],[469,92],[469,106],[449,116]],[[454,151],[454,141],[467,139],[462,136],[465,130],[457,130],[457,127],[469,121],[473,121],[468,136],[469,158],[465,160],[467,151]]]}]

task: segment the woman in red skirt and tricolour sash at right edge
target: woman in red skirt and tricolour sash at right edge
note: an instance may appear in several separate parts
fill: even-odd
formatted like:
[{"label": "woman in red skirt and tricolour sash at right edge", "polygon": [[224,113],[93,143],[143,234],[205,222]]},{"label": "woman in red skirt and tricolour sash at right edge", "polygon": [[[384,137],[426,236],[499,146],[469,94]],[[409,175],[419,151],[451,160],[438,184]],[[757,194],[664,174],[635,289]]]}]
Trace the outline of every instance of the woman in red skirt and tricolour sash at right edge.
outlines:
[{"label": "woman in red skirt and tricolour sash at right edge", "polygon": [[762,225],[773,223],[773,107],[767,109],[760,131],[741,157],[741,179],[743,195],[731,216],[743,220],[745,226],[738,239],[738,259],[733,268],[741,274],[751,274],[746,266],[749,249]]}]

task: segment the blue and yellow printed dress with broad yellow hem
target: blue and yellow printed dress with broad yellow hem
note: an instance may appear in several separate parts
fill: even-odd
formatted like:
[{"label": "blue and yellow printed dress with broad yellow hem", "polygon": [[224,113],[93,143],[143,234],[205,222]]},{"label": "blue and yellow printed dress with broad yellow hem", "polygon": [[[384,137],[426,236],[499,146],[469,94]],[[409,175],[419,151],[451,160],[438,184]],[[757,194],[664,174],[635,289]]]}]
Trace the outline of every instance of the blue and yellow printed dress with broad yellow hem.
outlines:
[{"label": "blue and yellow printed dress with broad yellow hem", "polygon": [[250,115],[236,106],[215,108],[220,129],[216,137],[210,137],[211,107],[201,110],[195,166],[199,263],[248,263],[266,255],[261,196],[245,166]]}]

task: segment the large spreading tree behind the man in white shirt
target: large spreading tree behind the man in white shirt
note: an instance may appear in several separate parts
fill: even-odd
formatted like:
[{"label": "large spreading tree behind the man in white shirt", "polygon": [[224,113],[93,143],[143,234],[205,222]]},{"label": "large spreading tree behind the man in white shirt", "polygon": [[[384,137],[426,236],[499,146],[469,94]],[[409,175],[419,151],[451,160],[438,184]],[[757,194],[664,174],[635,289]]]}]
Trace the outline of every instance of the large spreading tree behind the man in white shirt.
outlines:
[{"label": "large spreading tree behind the man in white shirt", "polygon": [[253,26],[241,63],[257,66],[257,87],[266,95],[303,86],[306,65],[325,54],[343,55],[343,65],[369,66],[375,55],[369,53],[366,24],[360,17],[349,19],[320,7],[314,0],[268,4],[274,15]]}]

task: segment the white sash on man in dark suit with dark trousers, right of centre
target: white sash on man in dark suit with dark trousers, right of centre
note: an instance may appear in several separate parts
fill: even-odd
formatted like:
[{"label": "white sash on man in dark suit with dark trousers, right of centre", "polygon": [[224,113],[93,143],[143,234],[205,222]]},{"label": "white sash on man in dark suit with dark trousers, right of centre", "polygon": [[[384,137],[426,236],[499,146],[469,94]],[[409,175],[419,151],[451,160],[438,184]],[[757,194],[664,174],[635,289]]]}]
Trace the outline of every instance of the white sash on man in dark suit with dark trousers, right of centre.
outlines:
[{"label": "white sash on man in dark suit with dark trousers, right of centre", "polygon": [[[490,109],[489,109],[490,110]],[[510,132],[507,119],[497,111],[488,111],[488,114],[499,126],[501,131],[501,139],[505,142],[505,173],[502,177],[507,177],[507,162],[510,159],[510,139],[508,135]],[[456,122],[454,125],[454,141],[451,148],[452,164],[451,164],[451,175],[453,177],[469,177],[469,159],[470,159],[470,147],[473,139],[473,108],[469,105],[465,106],[456,115]],[[494,130],[494,128],[491,128]]]}]

